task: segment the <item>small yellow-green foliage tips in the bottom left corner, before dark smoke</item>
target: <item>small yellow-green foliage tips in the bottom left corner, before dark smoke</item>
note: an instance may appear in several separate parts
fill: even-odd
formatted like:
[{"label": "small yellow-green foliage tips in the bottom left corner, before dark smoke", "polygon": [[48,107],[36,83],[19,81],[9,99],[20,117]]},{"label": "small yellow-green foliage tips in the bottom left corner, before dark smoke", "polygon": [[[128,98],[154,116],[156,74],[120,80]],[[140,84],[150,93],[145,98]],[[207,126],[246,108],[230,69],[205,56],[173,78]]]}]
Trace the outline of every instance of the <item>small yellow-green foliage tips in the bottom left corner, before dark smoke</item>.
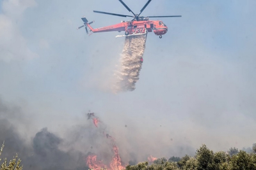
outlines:
[{"label": "small yellow-green foliage tips in the bottom left corner, before dark smoke", "polygon": [[[3,145],[1,146],[0,156],[3,153],[3,148],[4,148],[4,142],[3,142]],[[12,160],[10,160],[9,164],[7,164],[7,159],[6,158],[3,159],[4,162],[1,164],[0,170],[6,170],[6,169],[22,170],[23,166],[20,166],[21,160],[20,159],[17,160],[17,159],[18,159],[18,155],[17,154],[16,154],[15,157],[13,157]],[[0,158],[0,161],[1,160],[2,159]]]}]

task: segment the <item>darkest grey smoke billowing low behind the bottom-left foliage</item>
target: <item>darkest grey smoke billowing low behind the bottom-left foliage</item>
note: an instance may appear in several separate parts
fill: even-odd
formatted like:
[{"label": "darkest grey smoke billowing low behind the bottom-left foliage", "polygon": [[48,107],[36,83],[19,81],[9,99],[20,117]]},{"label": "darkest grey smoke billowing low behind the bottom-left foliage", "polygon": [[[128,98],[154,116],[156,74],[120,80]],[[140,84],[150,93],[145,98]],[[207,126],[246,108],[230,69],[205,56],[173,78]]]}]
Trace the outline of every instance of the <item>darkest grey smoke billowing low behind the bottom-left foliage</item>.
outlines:
[{"label": "darkest grey smoke billowing low behind the bottom-left foliage", "polygon": [[37,132],[33,140],[26,143],[17,129],[6,119],[0,119],[0,143],[4,141],[2,157],[8,160],[18,153],[24,169],[88,169],[84,162],[85,153],[74,149],[63,151],[63,139],[47,128]]}]

